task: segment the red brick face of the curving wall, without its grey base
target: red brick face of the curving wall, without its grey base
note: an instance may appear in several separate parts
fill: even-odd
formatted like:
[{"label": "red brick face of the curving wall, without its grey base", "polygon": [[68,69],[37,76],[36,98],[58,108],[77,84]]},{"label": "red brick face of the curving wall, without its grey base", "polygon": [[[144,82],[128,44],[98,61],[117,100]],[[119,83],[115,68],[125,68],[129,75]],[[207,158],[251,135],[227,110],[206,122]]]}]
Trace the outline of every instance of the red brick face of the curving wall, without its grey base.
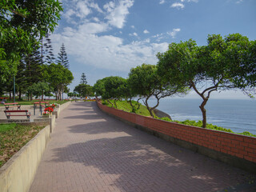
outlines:
[{"label": "red brick face of the curving wall, without its grey base", "polygon": [[116,110],[104,106],[101,102],[98,102],[98,107],[108,114],[113,114],[118,118],[166,134],[170,137],[191,142],[198,146],[205,146],[238,158],[244,158],[250,162],[256,162],[256,138],[230,134],[218,130],[207,130],[195,126],[186,126],[175,122],[166,122],[138,114],[131,114],[123,110]]}]

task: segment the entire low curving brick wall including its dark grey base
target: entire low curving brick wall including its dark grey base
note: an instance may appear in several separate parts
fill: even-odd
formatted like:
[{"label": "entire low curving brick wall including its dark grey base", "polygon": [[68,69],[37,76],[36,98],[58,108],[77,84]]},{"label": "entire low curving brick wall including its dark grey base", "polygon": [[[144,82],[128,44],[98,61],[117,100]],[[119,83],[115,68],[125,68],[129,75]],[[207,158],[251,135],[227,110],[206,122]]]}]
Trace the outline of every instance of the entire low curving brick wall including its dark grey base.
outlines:
[{"label": "entire low curving brick wall including its dark grey base", "polygon": [[166,141],[256,173],[256,138],[166,122],[117,110],[101,102],[97,102],[97,105],[107,114]]}]

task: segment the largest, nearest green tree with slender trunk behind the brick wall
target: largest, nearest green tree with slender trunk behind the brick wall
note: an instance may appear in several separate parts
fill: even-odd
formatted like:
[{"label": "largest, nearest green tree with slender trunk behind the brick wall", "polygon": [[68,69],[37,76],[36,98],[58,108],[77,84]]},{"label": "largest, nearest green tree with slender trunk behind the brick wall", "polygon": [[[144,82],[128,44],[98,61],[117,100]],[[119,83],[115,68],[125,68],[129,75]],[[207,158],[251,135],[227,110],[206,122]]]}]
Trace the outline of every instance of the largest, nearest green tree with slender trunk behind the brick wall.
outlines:
[{"label": "largest, nearest green tree with slender trunk behind the brick wall", "polygon": [[[163,79],[188,85],[202,98],[199,106],[202,111],[202,127],[206,127],[205,106],[210,94],[237,87],[234,77],[241,76],[238,66],[242,63],[241,58],[234,55],[238,56],[240,51],[247,53],[248,43],[247,38],[240,34],[230,34],[226,38],[213,34],[208,36],[207,41],[207,46],[197,46],[191,39],[171,43],[165,53],[157,55],[158,74]],[[231,47],[237,49],[232,50]]]}]

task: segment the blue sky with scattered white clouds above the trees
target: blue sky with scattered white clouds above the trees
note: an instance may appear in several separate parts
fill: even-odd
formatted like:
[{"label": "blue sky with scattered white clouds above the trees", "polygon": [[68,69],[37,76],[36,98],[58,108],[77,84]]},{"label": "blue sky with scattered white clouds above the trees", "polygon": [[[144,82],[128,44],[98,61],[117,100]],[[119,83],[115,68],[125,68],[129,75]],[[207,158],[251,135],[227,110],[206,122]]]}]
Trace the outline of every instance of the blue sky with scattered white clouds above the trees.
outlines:
[{"label": "blue sky with scattered white clouds above the trees", "polygon": [[[70,91],[82,73],[93,86],[111,75],[127,78],[130,68],[142,63],[157,64],[155,55],[165,52],[171,42],[193,38],[203,46],[208,34],[234,33],[256,39],[255,0],[61,2],[64,12],[51,39],[56,53],[62,43],[66,46],[74,74]],[[239,92],[217,95],[245,98]]]}]

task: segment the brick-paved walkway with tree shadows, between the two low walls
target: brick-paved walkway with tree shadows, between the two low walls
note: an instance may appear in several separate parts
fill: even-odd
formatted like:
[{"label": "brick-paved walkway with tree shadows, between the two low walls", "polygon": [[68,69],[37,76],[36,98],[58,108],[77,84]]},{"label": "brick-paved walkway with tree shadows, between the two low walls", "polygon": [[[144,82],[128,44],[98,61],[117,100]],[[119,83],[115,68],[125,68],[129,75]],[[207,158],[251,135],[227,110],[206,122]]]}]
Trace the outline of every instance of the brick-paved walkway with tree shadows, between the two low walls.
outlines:
[{"label": "brick-paved walkway with tree shadows, between the two low walls", "polygon": [[73,102],[30,191],[254,191],[254,178],[111,118],[94,102]]}]

